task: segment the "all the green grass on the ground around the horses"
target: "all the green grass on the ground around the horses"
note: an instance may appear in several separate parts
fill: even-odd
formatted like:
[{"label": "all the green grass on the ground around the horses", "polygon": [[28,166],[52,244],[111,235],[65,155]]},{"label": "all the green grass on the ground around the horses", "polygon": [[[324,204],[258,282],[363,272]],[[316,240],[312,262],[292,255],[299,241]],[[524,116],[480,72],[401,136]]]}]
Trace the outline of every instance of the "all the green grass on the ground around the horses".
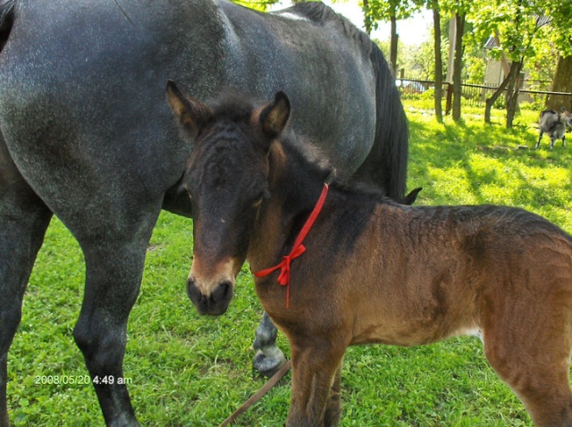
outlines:
[{"label": "all the green grass on the ground around the horses", "polygon": [[[535,113],[517,126],[466,121],[438,124],[414,102],[409,188],[417,203],[518,205],[572,231],[572,147],[533,147]],[[480,113],[480,112],[479,112]],[[501,116],[494,120],[501,123]],[[251,341],[262,309],[248,268],[227,314],[198,316],[185,292],[191,263],[189,220],[163,213],[147,254],[139,299],[129,323],[125,377],[139,421],[150,426],[218,425],[264,380],[251,368]],[[42,377],[86,374],[71,336],[80,311],[84,266],[80,248],[61,222],[46,236],[24,300],[9,355],[10,415],[16,426],[103,425],[86,384],[42,384]],[[279,337],[288,355],[288,344]],[[37,384],[37,380],[40,383]],[[290,374],[247,414],[242,426],[283,425]],[[427,347],[351,347],[342,374],[344,426],[532,425],[517,398],[486,363],[478,339]]]}]

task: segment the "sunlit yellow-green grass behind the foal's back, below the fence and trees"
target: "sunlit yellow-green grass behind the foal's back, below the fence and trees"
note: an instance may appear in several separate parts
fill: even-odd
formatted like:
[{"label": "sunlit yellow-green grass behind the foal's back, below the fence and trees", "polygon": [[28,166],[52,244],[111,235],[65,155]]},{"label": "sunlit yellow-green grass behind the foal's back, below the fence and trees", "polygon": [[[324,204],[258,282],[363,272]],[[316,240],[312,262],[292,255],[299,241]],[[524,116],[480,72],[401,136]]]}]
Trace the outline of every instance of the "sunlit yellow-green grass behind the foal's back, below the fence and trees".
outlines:
[{"label": "sunlit yellow-green grass behind the foal's back, below the fence and trees", "polygon": [[419,203],[515,205],[572,230],[572,155],[546,136],[534,149],[538,112],[523,110],[506,129],[499,110],[492,125],[469,108],[462,123],[439,124],[411,104],[409,187],[424,187]]}]

